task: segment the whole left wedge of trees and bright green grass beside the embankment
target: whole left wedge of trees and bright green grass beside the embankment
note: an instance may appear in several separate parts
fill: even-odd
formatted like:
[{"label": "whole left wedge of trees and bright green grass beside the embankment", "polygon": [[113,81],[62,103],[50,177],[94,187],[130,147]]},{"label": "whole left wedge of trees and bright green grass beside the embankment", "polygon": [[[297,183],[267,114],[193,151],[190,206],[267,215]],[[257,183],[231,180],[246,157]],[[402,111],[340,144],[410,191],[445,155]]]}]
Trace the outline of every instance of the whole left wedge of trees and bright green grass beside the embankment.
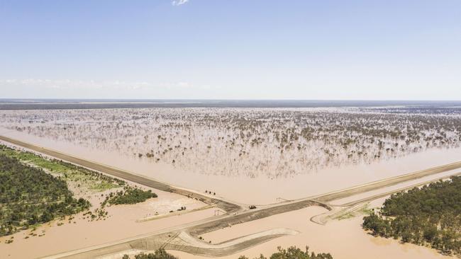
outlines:
[{"label": "whole left wedge of trees and bright green grass beside the embankment", "polygon": [[[91,212],[91,205],[87,200],[74,198],[70,190],[72,186],[85,190],[82,193],[103,192],[121,187],[123,190],[101,194],[106,197],[104,202]],[[72,163],[47,159],[28,151],[0,145],[0,236],[53,219],[62,220],[67,215],[87,209],[82,214],[82,219],[103,220],[108,217],[108,212],[104,209],[107,203],[135,204],[150,197],[157,195],[150,190],[141,190],[127,185],[123,180]],[[62,224],[59,222],[58,226]],[[6,243],[12,241],[11,239]]]}]

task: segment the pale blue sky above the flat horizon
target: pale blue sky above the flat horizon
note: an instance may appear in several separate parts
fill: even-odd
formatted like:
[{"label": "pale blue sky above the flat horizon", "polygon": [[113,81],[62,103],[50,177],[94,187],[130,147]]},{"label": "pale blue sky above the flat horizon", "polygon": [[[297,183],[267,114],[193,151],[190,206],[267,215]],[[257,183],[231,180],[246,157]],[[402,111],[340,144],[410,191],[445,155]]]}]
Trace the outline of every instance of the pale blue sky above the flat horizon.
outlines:
[{"label": "pale blue sky above the flat horizon", "polygon": [[0,98],[461,100],[461,1],[0,0]]}]

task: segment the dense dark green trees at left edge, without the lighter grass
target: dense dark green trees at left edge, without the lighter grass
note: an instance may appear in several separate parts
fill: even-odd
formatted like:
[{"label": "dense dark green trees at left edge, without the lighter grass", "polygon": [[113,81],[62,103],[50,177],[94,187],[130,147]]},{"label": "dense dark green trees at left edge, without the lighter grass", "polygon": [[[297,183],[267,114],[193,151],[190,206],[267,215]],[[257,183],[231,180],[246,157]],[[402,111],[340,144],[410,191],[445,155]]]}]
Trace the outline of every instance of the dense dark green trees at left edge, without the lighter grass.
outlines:
[{"label": "dense dark green trees at left edge, without the lighter grass", "polygon": [[0,154],[0,236],[88,209],[65,180]]}]

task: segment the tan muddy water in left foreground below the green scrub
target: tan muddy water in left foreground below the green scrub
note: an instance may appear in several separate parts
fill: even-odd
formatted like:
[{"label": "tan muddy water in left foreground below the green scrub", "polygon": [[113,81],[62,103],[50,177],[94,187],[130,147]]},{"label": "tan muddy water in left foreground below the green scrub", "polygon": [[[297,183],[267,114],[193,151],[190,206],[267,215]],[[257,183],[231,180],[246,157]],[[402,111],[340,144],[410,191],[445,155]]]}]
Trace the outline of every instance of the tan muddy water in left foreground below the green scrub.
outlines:
[{"label": "tan muddy water in left foreground below the green scrub", "polygon": [[110,217],[106,220],[87,221],[77,214],[70,224],[68,221],[62,221],[65,224],[57,226],[58,221],[52,221],[51,224],[40,226],[35,231],[37,234],[45,231],[45,236],[25,239],[30,233],[30,230],[27,230],[14,234],[14,241],[10,244],[4,243],[6,238],[0,238],[0,258],[40,258],[213,217],[214,209],[204,209],[142,223],[136,221],[146,214],[162,209],[169,199],[173,204],[179,202],[176,197],[165,197],[165,200],[157,205],[155,200],[151,199],[139,205],[113,206],[107,208]]}]

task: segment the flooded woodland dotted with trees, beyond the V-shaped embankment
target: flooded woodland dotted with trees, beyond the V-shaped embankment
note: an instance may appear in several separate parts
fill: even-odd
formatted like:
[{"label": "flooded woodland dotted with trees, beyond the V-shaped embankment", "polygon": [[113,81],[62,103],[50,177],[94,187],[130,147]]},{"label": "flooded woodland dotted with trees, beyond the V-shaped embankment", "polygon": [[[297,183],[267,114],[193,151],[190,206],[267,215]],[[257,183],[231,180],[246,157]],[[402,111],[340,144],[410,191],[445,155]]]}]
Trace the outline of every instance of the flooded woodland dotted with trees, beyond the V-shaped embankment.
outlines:
[{"label": "flooded woodland dotted with trees, beyond the V-shaped embankment", "polygon": [[461,142],[460,109],[428,106],[4,110],[0,125],[6,136],[247,204],[456,161]]}]

